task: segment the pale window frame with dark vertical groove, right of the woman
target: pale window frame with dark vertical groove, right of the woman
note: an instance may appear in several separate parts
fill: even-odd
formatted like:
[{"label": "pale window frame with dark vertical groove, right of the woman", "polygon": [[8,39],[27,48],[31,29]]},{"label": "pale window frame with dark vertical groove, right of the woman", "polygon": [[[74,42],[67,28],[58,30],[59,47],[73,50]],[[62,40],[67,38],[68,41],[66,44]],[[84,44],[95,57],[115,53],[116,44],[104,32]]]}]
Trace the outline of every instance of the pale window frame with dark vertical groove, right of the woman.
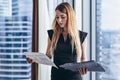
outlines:
[{"label": "pale window frame with dark vertical groove, right of the woman", "polygon": [[[88,32],[88,60],[96,60],[96,0],[82,0],[82,30]],[[96,73],[89,72],[89,80],[96,80]]]}]

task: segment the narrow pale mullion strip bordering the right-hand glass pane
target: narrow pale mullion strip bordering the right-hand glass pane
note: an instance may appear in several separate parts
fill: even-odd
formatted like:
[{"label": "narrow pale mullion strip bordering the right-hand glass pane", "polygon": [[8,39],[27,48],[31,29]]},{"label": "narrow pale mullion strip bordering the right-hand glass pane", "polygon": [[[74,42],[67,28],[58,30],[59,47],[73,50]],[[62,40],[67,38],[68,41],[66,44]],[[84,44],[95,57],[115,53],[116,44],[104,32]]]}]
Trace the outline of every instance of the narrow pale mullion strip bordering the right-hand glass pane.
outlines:
[{"label": "narrow pale mullion strip bordering the right-hand glass pane", "polygon": [[[90,1],[90,60],[96,60],[96,0]],[[95,72],[90,73],[90,80],[95,79]]]}]

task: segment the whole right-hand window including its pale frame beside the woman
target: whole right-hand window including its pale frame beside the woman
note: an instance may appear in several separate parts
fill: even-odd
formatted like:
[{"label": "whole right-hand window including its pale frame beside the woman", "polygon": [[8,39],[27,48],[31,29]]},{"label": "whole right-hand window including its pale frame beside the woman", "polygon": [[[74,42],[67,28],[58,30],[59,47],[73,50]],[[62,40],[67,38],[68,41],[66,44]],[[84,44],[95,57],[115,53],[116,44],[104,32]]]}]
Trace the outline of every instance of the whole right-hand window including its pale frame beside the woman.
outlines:
[{"label": "whole right-hand window including its pale frame beside the woman", "polygon": [[88,54],[105,68],[86,80],[120,80],[120,1],[82,0],[82,25],[88,32]]}]

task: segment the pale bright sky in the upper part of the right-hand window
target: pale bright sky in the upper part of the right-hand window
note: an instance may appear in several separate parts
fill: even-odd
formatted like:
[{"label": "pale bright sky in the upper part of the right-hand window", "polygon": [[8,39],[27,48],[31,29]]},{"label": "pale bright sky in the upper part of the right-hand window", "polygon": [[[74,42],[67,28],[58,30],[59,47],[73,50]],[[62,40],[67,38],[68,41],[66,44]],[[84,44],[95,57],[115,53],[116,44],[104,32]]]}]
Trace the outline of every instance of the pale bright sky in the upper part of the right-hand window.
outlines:
[{"label": "pale bright sky in the upper part of the right-hand window", "polygon": [[120,30],[120,0],[102,0],[101,29]]}]

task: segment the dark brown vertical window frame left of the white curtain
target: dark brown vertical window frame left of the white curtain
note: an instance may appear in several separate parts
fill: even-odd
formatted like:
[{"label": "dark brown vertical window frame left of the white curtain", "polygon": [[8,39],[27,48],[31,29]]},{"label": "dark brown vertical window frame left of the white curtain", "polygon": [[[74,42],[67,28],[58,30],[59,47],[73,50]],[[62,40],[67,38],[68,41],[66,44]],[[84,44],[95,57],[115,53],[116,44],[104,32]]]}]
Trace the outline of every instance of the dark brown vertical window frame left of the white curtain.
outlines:
[{"label": "dark brown vertical window frame left of the white curtain", "polygon": [[[32,24],[32,52],[38,52],[38,41],[39,41],[39,8],[38,0],[33,0],[33,24]],[[31,80],[38,80],[38,64],[33,63],[31,65]]]}]

